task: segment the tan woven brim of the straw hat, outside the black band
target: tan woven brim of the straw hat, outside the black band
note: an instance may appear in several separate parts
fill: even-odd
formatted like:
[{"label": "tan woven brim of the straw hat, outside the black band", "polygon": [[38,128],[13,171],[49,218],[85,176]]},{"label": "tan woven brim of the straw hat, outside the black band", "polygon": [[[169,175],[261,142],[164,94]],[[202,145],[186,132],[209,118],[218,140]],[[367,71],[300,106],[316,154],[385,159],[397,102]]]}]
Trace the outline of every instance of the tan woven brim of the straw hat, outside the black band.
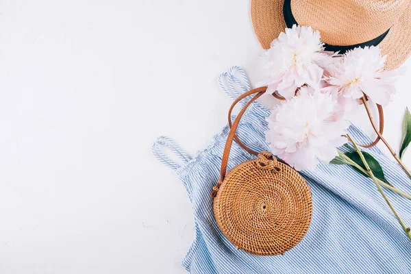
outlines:
[{"label": "tan woven brim of the straw hat, outside the black band", "polygon": [[[284,0],[251,0],[251,20],[254,32],[264,49],[269,49],[271,42],[280,32],[284,32],[286,23],[283,15]],[[378,47],[387,55],[386,69],[395,69],[408,58],[411,52],[411,1],[406,12],[390,28],[388,35]]]}]

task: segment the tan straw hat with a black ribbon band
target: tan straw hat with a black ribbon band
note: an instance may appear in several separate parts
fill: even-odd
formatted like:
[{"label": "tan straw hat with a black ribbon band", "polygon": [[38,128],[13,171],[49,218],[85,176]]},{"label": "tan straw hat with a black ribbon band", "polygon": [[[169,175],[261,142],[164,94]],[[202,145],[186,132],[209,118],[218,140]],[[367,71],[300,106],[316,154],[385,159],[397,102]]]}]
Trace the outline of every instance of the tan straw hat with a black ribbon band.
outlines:
[{"label": "tan straw hat with a black ribbon band", "polygon": [[318,29],[329,50],[378,45],[388,55],[386,69],[411,51],[410,0],[251,0],[251,19],[264,49],[298,23]]}]

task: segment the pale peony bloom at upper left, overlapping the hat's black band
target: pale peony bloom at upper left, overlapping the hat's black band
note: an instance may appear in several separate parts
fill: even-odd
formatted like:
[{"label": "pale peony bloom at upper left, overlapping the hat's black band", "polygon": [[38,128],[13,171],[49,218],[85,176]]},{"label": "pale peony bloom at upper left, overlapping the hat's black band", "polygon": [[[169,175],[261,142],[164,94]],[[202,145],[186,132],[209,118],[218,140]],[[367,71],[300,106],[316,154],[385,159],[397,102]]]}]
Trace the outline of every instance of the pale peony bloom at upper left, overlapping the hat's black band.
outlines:
[{"label": "pale peony bloom at upper left, overlapping the hat's black band", "polygon": [[323,77],[323,69],[334,62],[336,54],[324,51],[320,33],[312,27],[293,25],[271,42],[264,53],[264,81],[267,92],[277,90],[290,99],[297,88],[308,84],[316,88]]}]

